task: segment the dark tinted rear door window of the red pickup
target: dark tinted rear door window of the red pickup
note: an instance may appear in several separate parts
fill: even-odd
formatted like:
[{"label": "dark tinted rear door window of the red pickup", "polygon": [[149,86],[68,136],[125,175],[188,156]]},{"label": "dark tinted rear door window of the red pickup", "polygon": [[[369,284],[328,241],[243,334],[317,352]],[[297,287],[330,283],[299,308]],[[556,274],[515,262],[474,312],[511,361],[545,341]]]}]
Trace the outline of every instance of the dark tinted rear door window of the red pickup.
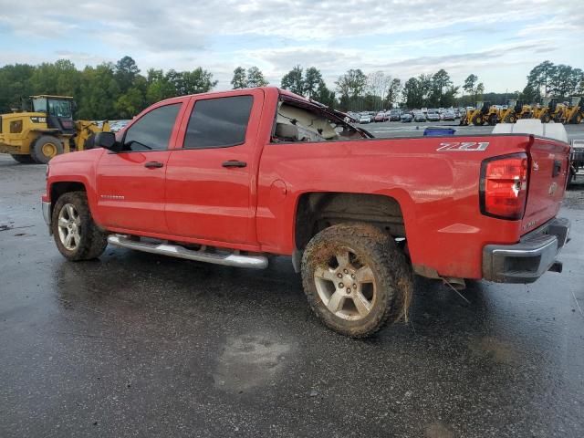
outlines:
[{"label": "dark tinted rear door window of the red pickup", "polygon": [[242,144],[253,103],[252,96],[198,100],[186,130],[184,148],[224,148]]}]

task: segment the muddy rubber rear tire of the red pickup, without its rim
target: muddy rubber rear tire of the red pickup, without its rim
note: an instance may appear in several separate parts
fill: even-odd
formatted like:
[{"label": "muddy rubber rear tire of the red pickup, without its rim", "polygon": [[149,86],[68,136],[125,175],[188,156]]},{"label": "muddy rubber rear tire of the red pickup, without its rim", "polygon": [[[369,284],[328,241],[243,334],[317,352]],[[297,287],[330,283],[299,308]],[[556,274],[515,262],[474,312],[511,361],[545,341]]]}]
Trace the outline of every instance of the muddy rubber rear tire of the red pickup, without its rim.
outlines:
[{"label": "muddy rubber rear tire of the red pickup, without its rim", "polygon": [[[375,298],[370,313],[362,319],[339,318],[328,310],[318,294],[315,271],[327,264],[339,248],[352,249],[363,265],[370,266],[375,278]],[[310,308],[328,328],[340,334],[365,338],[389,320],[407,318],[413,288],[412,268],[391,236],[379,228],[369,224],[338,224],[324,229],[308,243],[301,271]]]}]

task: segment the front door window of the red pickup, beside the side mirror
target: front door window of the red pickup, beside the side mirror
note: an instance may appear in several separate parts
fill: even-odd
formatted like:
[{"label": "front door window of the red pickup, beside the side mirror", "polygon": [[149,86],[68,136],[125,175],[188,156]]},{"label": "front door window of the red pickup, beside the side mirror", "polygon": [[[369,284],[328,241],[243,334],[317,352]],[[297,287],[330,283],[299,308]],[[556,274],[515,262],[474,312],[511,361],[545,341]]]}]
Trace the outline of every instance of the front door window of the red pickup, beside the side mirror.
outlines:
[{"label": "front door window of the red pickup, beside the side mirror", "polygon": [[151,110],[126,130],[121,151],[164,151],[168,149],[174,121],[181,103]]}]

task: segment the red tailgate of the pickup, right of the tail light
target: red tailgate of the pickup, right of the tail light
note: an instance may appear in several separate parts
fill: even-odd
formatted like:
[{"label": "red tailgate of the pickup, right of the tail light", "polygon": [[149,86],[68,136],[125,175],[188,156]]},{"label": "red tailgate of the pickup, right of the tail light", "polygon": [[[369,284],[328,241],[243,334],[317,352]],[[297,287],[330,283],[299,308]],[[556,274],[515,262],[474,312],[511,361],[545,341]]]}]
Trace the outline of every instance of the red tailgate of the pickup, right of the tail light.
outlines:
[{"label": "red tailgate of the pickup, right of the tail light", "polygon": [[522,234],[558,214],[568,177],[568,144],[536,137],[532,140],[529,154],[531,169]]}]

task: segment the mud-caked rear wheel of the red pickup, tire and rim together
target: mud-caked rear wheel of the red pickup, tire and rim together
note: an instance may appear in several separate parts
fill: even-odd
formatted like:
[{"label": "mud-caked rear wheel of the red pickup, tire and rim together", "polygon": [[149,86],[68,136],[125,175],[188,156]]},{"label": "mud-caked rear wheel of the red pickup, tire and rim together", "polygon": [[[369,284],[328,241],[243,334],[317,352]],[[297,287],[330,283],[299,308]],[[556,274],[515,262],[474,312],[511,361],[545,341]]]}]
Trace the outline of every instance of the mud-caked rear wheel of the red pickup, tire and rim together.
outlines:
[{"label": "mud-caked rear wheel of the red pickup, tire and rim together", "polygon": [[368,224],[339,224],[315,235],[302,256],[308,304],[328,328],[364,338],[407,318],[412,269],[391,236]]}]

